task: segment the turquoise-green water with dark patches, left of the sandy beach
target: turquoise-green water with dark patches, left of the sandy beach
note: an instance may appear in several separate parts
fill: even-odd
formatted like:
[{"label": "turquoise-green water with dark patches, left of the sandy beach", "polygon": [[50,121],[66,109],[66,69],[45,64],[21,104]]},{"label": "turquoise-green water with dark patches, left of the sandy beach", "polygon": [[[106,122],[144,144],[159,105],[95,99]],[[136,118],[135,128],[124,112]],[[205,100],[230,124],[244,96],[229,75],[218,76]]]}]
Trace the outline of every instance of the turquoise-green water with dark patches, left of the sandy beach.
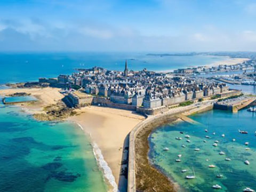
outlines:
[{"label": "turquoise-green water with dark patches, left of the sandy beach", "polygon": [[37,122],[20,110],[0,105],[0,191],[107,191],[79,126]]}]

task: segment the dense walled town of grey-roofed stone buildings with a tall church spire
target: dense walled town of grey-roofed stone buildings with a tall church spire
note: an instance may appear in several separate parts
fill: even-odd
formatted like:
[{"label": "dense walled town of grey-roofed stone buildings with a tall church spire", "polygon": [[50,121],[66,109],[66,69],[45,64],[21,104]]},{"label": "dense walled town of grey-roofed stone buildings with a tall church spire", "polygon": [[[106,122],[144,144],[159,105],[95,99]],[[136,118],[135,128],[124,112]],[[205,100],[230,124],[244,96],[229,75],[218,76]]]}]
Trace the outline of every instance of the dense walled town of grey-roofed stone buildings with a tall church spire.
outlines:
[{"label": "dense walled town of grey-roofed stone buildings with a tall church spire", "polygon": [[100,67],[77,71],[72,75],[59,75],[58,78],[39,78],[39,83],[68,90],[62,93],[67,95],[66,102],[70,107],[94,103],[146,114],[214,95],[220,98],[237,94],[229,90],[225,83],[214,79],[156,73],[147,69],[129,70],[127,61],[124,71]]}]

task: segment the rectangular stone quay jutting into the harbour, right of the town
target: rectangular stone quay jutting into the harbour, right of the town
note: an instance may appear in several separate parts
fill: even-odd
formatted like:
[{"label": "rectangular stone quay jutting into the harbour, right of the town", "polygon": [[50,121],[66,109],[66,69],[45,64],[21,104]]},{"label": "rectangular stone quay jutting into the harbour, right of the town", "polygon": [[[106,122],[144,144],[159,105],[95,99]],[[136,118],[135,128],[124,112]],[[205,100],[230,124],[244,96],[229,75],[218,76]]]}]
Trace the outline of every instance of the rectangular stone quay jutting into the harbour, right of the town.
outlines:
[{"label": "rectangular stone quay jutting into the harbour, right of the town", "polygon": [[233,113],[237,113],[238,110],[249,106],[256,100],[255,97],[241,97],[236,99],[228,99],[215,102],[213,105],[214,109],[228,110]]}]

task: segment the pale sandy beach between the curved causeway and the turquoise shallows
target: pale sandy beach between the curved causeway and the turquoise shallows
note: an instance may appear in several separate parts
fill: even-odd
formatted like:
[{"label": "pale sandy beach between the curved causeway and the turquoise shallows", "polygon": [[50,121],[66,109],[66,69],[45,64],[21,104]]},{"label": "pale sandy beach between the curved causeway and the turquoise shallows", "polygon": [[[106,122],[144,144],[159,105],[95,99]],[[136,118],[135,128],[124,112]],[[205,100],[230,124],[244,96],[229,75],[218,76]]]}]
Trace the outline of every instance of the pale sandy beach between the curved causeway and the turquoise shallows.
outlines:
[{"label": "pale sandy beach between the curved causeway and the turquoise shallows", "polygon": [[119,184],[118,189],[125,191],[121,187],[125,181],[119,180],[122,157],[126,155],[126,152],[123,152],[123,146],[133,127],[145,117],[128,110],[96,106],[77,109],[77,112],[79,115],[69,117],[68,120],[80,124],[90,135],[92,142],[97,143],[114,175],[117,186]]}]

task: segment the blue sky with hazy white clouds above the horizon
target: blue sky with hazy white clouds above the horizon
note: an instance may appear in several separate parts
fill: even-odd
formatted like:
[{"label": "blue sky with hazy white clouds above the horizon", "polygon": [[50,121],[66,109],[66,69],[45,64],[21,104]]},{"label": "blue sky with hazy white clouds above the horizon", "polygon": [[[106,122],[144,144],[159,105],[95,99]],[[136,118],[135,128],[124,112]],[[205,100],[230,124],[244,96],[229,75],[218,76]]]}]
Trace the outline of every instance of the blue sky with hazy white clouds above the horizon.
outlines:
[{"label": "blue sky with hazy white clouds above the horizon", "polygon": [[255,50],[255,0],[0,1],[0,51]]}]

